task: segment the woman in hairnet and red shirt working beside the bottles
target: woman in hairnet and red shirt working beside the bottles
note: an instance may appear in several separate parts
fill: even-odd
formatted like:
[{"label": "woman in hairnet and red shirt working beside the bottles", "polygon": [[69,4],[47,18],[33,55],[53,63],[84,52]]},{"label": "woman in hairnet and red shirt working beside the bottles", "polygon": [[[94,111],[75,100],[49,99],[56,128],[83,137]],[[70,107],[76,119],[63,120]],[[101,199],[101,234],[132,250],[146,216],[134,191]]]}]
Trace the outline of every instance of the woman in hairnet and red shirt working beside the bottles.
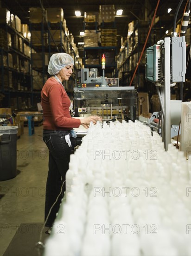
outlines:
[{"label": "woman in hairnet and red shirt working beside the bottles", "polygon": [[[69,80],[73,66],[74,60],[69,54],[53,54],[48,65],[48,73],[51,77],[45,82],[41,91],[41,104],[44,118],[43,140],[49,149],[49,170],[45,195],[45,220],[47,216],[49,216],[45,222],[46,227],[53,225],[65,191],[64,181],[66,171],[69,168],[71,154],[70,131],[72,128],[78,128],[81,124],[85,128],[88,128],[90,121],[95,124],[96,121],[101,120],[98,116],[89,116],[81,120],[71,117],[71,101],[62,82]],[[62,186],[63,190],[61,196],[57,200]],[[54,203],[55,205],[51,209]]]}]

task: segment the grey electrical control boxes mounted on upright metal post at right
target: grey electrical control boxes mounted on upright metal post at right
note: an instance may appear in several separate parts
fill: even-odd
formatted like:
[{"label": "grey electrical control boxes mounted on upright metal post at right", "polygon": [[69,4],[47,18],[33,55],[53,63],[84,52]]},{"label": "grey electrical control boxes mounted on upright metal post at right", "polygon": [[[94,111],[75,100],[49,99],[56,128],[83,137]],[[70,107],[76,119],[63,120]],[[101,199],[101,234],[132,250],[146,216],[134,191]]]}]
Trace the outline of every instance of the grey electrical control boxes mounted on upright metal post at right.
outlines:
[{"label": "grey electrical control boxes mounted on upright metal post at right", "polygon": [[[171,143],[171,87],[185,82],[186,42],[185,36],[166,37],[146,49],[146,80],[155,84],[161,106],[162,138],[165,148]],[[180,105],[181,109],[181,105]],[[178,123],[176,123],[178,125]]]}]

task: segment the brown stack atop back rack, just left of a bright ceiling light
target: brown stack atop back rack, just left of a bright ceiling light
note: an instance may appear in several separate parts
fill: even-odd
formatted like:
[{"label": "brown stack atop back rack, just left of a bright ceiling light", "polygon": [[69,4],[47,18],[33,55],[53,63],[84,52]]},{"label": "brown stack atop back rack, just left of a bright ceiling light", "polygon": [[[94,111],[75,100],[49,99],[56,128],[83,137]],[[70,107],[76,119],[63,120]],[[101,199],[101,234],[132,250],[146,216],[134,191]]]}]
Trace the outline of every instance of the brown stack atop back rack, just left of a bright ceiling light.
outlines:
[{"label": "brown stack atop back rack, just left of a bright ceiling light", "polygon": [[100,5],[99,20],[100,20],[100,22],[115,21],[115,6],[114,5]]}]

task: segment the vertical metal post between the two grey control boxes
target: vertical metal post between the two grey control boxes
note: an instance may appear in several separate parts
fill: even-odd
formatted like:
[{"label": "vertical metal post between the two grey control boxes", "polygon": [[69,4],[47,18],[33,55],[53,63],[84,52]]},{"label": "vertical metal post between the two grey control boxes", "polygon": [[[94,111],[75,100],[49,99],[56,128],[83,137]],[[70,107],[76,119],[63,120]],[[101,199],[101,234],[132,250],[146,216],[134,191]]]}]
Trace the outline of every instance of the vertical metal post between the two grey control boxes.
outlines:
[{"label": "vertical metal post between the two grey control boxes", "polygon": [[165,38],[165,149],[171,143],[171,60],[170,37]]}]

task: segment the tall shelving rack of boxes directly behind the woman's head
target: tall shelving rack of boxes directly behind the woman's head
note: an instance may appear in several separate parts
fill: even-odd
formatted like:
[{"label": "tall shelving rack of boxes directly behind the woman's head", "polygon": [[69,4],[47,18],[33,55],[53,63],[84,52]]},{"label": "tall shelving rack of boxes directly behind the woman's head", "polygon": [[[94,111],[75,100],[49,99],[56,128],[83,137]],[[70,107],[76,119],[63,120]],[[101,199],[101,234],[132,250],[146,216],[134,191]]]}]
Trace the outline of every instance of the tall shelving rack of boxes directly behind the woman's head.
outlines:
[{"label": "tall shelving rack of boxes directly behind the woman's head", "polygon": [[[52,54],[63,52],[70,54],[74,59],[74,75],[71,77],[70,81],[65,84],[66,91],[71,94],[73,92],[73,87],[75,85],[75,74],[76,70],[81,67],[81,64],[77,61],[77,54],[74,47],[70,41],[70,35],[67,34],[64,24],[60,22],[41,22],[41,23],[30,23],[31,31],[38,31],[40,34],[41,44],[33,44],[31,40],[31,48],[33,48],[37,54],[42,54],[42,67],[34,67],[34,60],[32,55],[32,70],[35,70],[42,76],[42,86],[47,79],[47,65]],[[48,60],[45,61],[45,54],[48,55]],[[33,83],[34,84],[34,83]],[[34,90],[34,88],[33,88]],[[36,94],[38,91],[36,91]]]}]

